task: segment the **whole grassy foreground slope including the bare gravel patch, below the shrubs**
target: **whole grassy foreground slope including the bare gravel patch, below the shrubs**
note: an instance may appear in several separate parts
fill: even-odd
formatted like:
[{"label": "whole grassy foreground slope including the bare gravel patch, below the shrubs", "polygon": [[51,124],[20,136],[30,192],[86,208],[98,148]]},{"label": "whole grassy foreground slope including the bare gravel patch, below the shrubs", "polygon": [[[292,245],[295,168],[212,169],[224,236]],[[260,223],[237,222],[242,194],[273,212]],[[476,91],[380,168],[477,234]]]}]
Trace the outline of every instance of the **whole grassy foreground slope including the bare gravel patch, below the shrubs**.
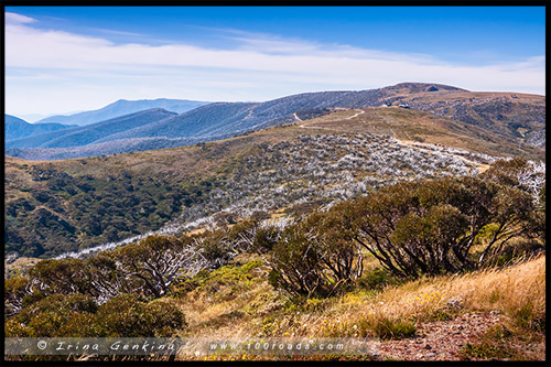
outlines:
[{"label": "whole grassy foreground slope including the bare gravel patch, below the shrubs", "polygon": [[[364,356],[368,360],[544,358],[544,334],[527,327],[528,320],[544,317],[544,257],[409,282],[389,278],[372,261],[366,259],[370,271],[363,285],[327,299],[295,300],[271,288],[261,259],[241,257],[194,278],[190,290],[183,287],[165,302],[187,317],[181,337],[382,337],[377,354]],[[395,337],[385,334],[392,331]],[[179,359],[230,358],[262,359]]]}]

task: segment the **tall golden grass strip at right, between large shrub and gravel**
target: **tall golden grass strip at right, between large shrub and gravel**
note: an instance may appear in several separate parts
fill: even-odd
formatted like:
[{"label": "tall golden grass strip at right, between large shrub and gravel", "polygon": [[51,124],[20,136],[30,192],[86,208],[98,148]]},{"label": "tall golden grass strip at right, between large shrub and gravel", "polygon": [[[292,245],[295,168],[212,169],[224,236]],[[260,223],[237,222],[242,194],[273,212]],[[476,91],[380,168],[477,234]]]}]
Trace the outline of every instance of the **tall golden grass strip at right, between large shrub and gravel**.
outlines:
[{"label": "tall golden grass strip at right, between large shrub and gravel", "polygon": [[[408,319],[417,322],[431,319],[439,311],[500,311],[510,316],[527,304],[544,314],[544,256],[505,269],[423,278],[388,287],[375,296],[355,292],[343,296],[327,314],[341,315],[338,322],[344,327],[337,330],[343,331],[361,319]],[[335,323],[329,323],[329,326],[335,326]]]}]

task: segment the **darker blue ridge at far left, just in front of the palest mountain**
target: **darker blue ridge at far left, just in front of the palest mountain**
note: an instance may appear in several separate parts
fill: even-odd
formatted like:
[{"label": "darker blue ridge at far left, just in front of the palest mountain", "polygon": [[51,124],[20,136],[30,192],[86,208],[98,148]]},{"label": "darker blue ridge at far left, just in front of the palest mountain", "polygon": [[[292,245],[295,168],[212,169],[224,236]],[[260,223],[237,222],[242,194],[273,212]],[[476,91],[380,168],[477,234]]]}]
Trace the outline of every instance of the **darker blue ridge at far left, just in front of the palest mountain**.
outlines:
[{"label": "darker blue ridge at far left, just in front of the palest mountain", "polygon": [[110,134],[173,116],[176,116],[176,114],[162,108],[152,108],[88,126],[7,141],[6,149],[84,147]]}]

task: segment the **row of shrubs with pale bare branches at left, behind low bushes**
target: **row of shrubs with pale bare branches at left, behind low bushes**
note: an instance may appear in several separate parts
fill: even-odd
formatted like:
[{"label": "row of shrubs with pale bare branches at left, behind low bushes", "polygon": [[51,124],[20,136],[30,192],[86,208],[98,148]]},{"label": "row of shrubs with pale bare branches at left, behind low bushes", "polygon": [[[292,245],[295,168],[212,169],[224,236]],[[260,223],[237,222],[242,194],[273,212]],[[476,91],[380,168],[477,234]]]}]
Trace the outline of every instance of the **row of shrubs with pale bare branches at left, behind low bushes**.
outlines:
[{"label": "row of shrubs with pale bare branches at left, behind low bushes", "polygon": [[149,236],[87,259],[42,260],[29,270],[29,278],[7,283],[6,315],[13,316],[25,304],[51,294],[86,294],[98,304],[121,293],[161,298],[172,283],[219,268],[237,253],[251,250],[257,230],[258,223],[247,220],[229,230],[183,238]]}]

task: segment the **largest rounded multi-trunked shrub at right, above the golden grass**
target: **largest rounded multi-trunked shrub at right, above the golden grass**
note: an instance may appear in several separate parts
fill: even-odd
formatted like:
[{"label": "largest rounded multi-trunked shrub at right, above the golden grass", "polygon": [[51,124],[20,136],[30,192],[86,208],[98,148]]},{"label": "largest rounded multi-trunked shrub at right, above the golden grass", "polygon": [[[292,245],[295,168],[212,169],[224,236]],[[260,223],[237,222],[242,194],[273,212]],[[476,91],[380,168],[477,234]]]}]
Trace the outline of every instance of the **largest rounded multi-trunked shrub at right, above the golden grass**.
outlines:
[{"label": "largest rounded multi-trunked shrub at right, above the golden grass", "polygon": [[[473,269],[511,238],[534,233],[528,193],[477,177],[400,183],[350,204],[365,249],[392,273],[417,278]],[[497,227],[477,259],[469,251]]]}]

